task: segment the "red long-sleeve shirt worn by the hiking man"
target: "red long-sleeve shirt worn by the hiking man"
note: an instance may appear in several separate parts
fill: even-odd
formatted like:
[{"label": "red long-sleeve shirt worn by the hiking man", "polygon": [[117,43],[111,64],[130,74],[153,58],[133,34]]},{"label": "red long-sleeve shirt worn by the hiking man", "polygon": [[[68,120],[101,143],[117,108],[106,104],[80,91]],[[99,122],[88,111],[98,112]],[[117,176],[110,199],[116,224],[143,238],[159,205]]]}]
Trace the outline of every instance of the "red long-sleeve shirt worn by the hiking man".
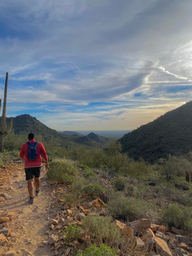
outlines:
[{"label": "red long-sleeve shirt worn by the hiking man", "polygon": [[[34,143],[35,140],[29,140],[30,143]],[[21,147],[21,151],[20,151],[20,157],[24,159],[25,164],[24,167],[28,168],[28,167],[39,167],[42,166],[42,158],[41,158],[41,154],[43,155],[43,158],[45,159],[45,161],[47,161],[47,153],[45,151],[45,148],[43,147],[43,144],[41,142],[37,143],[37,157],[35,160],[29,160],[28,159],[28,145],[27,143],[24,143]]]}]

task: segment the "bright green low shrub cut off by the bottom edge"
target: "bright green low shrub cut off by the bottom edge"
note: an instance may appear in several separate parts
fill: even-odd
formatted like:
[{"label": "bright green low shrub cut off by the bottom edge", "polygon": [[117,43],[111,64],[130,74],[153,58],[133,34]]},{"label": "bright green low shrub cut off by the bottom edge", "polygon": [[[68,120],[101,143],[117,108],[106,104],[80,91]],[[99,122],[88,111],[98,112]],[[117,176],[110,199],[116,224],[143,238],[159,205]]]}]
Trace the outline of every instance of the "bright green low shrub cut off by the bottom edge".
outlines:
[{"label": "bright green low shrub cut off by the bottom edge", "polygon": [[115,250],[107,245],[101,245],[97,247],[96,245],[91,245],[89,248],[85,249],[84,251],[77,251],[78,256],[117,256]]}]

